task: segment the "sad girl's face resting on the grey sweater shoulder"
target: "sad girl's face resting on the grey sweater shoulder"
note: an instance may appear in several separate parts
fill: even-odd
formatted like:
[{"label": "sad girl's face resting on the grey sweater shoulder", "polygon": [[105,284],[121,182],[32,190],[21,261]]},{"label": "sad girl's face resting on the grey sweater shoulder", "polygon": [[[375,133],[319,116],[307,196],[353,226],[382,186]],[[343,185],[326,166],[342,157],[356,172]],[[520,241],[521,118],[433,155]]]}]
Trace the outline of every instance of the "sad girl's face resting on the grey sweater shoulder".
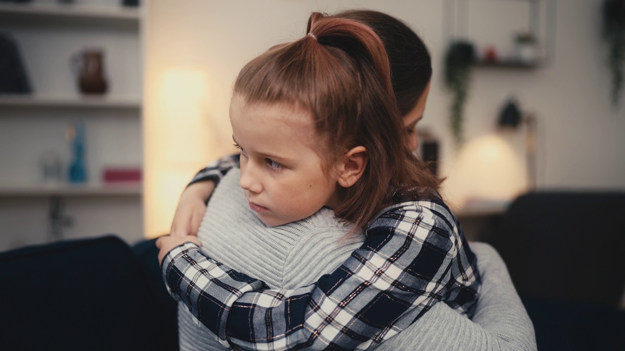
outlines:
[{"label": "sad girl's face resting on the grey sweater shoulder", "polygon": [[230,104],[232,139],[241,148],[241,188],[267,225],[304,219],[338,204],[337,175],[323,171],[312,116],[286,104]]}]

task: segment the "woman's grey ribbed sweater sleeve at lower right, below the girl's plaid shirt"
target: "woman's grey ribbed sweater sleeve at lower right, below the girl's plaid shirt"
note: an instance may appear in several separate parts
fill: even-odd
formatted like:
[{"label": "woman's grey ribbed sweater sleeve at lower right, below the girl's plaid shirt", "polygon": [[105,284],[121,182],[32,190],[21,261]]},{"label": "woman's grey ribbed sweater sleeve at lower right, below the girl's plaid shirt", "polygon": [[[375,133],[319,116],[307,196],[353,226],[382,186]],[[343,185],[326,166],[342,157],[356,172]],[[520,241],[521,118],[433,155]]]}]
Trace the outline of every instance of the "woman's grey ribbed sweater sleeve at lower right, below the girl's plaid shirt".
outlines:
[{"label": "woman's grey ribbed sweater sleeve at lower right, below the girl's plaid shirt", "polygon": [[512,285],[506,264],[491,245],[472,242],[482,288],[472,320],[447,304],[423,317],[376,350],[535,351],[534,327]]}]

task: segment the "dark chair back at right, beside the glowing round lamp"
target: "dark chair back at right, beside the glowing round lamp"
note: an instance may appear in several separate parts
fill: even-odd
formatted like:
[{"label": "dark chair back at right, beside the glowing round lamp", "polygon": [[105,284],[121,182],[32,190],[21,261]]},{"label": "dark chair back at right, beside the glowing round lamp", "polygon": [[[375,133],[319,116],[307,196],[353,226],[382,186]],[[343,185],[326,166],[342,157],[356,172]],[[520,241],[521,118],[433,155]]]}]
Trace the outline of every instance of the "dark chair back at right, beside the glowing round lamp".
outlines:
[{"label": "dark chair back at right, beside the glowing round lamp", "polygon": [[624,192],[535,192],[492,238],[521,297],[617,307],[625,287]]}]

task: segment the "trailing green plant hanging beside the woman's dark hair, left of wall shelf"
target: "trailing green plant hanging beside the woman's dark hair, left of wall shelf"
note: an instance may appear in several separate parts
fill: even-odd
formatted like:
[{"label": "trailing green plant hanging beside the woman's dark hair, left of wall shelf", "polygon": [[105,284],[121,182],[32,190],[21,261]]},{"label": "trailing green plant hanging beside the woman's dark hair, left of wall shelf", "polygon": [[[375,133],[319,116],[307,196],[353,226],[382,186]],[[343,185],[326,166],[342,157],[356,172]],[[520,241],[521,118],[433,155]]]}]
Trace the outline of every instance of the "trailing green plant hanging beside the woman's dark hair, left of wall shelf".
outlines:
[{"label": "trailing green plant hanging beside the woman's dark hair, left of wall shelf", "polygon": [[462,109],[467,99],[471,69],[475,61],[475,49],[470,42],[454,41],[447,48],[444,76],[445,86],[453,94],[449,117],[456,146],[462,144]]}]

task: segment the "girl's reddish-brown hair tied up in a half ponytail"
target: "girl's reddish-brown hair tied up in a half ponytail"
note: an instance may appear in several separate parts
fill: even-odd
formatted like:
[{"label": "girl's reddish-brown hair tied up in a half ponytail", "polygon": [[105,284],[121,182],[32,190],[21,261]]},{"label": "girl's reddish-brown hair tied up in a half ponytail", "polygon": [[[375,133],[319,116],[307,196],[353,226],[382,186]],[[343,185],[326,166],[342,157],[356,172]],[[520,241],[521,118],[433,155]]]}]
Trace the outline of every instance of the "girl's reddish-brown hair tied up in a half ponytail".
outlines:
[{"label": "girl's reddish-brown hair tied up in a half ponytail", "polygon": [[234,94],[247,104],[291,104],[310,111],[328,165],[364,146],[359,180],[339,187],[337,217],[366,229],[396,199],[437,197],[439,182],[407,146],[384,45],[361,22],[313,12],[306,36],[272,47],[241,69]]}]

